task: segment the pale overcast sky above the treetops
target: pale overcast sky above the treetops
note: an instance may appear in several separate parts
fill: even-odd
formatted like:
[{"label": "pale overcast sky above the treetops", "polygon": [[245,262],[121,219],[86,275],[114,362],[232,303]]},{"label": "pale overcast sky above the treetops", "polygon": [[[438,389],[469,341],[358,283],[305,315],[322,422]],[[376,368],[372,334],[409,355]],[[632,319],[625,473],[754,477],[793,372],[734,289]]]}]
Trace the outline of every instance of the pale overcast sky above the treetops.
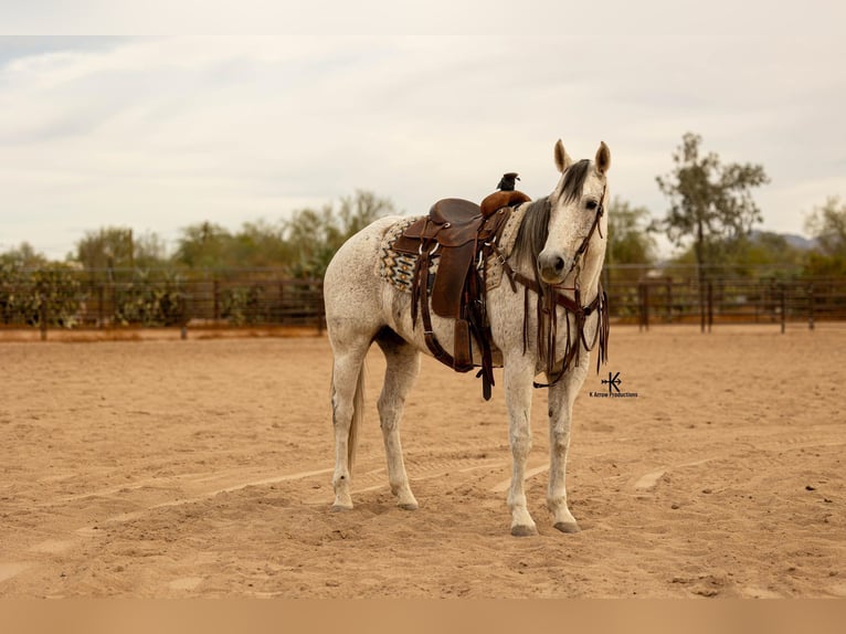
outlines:
[{"label": "pale overcast sky above the treetops", "polygon": [[[846,196],[846,4],[588,3],[258,2],[247,20],[210,1],[187,31],[234,34],[183,36],[198,3],[15,2],[9,32],[62,36],[0,38],[0,252],[63,258],[102,226],[172,246],[356,189],[423,213],[506,171],[546,196],[558,138],[573,158],[604,140],[612,193],[656,216],[686,131],[764,166],[763,229],[803,233]],[[80,4],[157,34],[80,36],[109,32]],[[265,14],[277,33],[247,34]]]}]

